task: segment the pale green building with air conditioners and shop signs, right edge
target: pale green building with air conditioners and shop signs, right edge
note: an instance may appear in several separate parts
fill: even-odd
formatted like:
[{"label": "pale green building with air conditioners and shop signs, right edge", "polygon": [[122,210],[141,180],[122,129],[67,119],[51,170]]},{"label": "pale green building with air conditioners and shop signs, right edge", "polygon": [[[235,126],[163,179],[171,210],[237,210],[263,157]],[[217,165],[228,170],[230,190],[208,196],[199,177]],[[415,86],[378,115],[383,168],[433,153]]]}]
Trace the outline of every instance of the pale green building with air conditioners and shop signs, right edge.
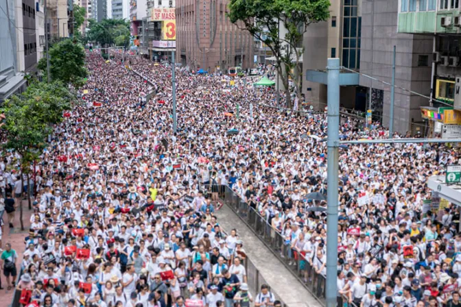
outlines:
[{"label": "pale green building with air conditioners and shop signs, right edge", "polygon": [[[399,1],[399,35],[418,34],[424,38],[425,52],[413,63],[420,69],[421,91],[431,95],[432,101],[421,99],[419,114],[429,120],[431,132],[446,132],[445,125],[461,133],[461,14],[460,1]],[[416,36],[416,35],[413,35]],[[414,46],[420,49],[421,45]],[[424,74],[424,75],[423,75]],[[415,104],[414,108],[418,105]],[[427,108],[426,108],[427,107]],[[414,116],[419,110],[412,110]],[[434,123],[438,123],[434,125]],[[442,129],[443,127],[443,129]],[[444,138],[449,136],[443,135]]]}]

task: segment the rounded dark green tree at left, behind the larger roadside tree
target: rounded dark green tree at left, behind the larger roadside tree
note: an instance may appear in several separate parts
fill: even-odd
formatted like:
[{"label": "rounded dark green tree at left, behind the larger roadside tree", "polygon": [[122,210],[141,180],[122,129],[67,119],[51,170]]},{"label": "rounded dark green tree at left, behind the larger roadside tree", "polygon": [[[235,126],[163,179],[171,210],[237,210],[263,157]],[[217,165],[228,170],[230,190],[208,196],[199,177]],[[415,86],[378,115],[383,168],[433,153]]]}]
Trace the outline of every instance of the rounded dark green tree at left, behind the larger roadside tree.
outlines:
[{"label": "rounded dark green tree at left, behind the larger roadside tree", "polygon": [[[88,74],[85,68],[85,50],[80,43],[71,39],[62,40],[49,49],[49,64],[51,79],[75,87],[81,86]],[[38,69],[46,75],[46,57],[38,62]]]}]

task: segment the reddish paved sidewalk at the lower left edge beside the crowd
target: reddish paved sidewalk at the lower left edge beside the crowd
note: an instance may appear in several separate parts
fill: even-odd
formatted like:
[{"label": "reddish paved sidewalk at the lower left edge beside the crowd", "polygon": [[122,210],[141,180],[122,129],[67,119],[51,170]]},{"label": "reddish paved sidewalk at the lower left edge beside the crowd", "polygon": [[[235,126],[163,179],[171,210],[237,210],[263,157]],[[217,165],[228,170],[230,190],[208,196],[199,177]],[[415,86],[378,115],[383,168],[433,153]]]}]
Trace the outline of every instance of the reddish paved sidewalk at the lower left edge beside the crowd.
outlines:
[{"label": "reddish paved sidewalk at the lower left edge beside the crowd", "polygon": [[[21,262],[23,261],[23,253],[25,251],[24,238],[29,234],[30,228],[30,217],[32,215],[32,210],[29,210],[27,200],[23,200],[23,222],[24,222],[24,231],[21,231],[21,223],[19,221],[19,208],[16,208],[16,214],[14,214],[14,228],[8,227],[8,218],[3,214],[3,236],[1,239],[2,247],[5,248],[6,243],[11,243],[12,249],[18,253],[18,260],[16,262],[16,268],[18,270],[21,267]],[[3,268],[1,271],[1,286],[3,290],[0,290],[0,307],[10,306],[11,300],[14,295],[14,289],[7,291],[6,290],[6,280],[5,275],[3,275]],[[15,280],[16,281],[16,280]]]}]

